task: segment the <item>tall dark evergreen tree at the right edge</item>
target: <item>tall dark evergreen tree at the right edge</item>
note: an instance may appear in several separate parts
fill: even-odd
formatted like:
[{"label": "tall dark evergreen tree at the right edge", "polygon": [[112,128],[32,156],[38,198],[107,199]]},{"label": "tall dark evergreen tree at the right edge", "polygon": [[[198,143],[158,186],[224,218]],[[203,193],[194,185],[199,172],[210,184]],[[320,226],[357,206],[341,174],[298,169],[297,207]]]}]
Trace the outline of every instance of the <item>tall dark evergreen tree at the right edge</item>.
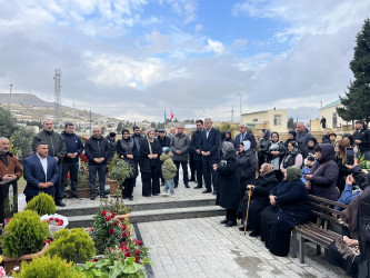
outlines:
[{"label": "tall dark evergreen tree at the right edge", "polygon": [[348,86],[346,97],[340,97],[343,105],[337,108],[338,115],[347,120],[370,120],[370,19],[366,19],[362,30],[357,34],[353,60],[350,69],[354,80]]}]

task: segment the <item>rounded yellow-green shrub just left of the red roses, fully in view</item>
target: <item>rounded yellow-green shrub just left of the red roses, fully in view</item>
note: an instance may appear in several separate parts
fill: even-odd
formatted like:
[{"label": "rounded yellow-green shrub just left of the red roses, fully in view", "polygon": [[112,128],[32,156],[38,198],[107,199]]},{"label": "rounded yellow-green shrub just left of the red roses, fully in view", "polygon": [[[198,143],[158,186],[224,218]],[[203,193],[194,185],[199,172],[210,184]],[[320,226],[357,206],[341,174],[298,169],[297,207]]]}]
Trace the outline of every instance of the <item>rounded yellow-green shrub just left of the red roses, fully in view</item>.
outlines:
[{"label": "rounded yellow-green shrub just left of the red roses, fully in view", "polygon": [[54,234],[47,255],[58,256],[69,262],[86,262],[96,255],[92,238],[83,229],[61,229]]}]

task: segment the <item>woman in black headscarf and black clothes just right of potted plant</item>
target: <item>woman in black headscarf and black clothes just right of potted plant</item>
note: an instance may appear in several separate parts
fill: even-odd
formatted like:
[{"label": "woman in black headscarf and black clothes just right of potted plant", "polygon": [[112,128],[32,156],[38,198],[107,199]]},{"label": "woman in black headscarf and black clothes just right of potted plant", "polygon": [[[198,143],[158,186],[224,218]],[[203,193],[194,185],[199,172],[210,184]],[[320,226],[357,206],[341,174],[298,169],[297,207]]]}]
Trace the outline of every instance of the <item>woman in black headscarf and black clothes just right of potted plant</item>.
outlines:
[{"label": "woman in black headscarf and black clothes just right of potted plant", "polygon": [[137,146],[133,138],[130,137],[130,131],[128,129],[122,130],[122,139],[117,141],[117,155],[118,159],[123,159],[127,161],[131,168],[130,177],[127,178],[122,183],[122,198],[129,198],[130,201],[133,200],[132,191],[138,177],[138,157],[137,157]]}]

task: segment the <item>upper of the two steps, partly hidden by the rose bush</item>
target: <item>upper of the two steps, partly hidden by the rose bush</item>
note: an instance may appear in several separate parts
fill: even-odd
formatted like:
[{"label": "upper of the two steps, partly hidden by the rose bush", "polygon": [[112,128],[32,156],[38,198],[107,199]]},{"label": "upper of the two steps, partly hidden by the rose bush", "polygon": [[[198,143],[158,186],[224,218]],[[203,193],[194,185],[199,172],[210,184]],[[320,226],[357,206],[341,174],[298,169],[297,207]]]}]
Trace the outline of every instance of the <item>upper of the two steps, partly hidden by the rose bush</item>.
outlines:
[{"label": "upper of the two steps, partly hidden by the rose bush", "polygon": [[[132,211],[146,211],[146,210],[160,210],[160,209],[176,209],[176,208],[189,208],[189,207],[209,207],[214,206],[214,198],[194,198],[188,200],[177,200],[172,198],[162,198],[160,201],[153,200],[148,202],[136,202],[124,201],[124,205],[131,207]],[[63,208],[58,207],[57,214],[66,217],[74,216],[89,216],[94,215],[99,211],[99,203],[86,203],[84,207],[81,205],[67,206]]]}]

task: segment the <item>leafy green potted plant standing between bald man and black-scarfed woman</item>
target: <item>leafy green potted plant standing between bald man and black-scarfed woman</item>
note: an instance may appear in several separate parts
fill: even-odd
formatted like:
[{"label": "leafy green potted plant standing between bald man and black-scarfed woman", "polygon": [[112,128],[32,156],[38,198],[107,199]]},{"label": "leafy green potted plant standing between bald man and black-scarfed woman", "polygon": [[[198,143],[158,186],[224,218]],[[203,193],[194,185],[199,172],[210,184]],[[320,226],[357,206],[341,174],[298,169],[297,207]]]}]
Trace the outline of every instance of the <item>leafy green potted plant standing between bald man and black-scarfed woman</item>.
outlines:
[{"label": "leafy green potted plant standing between bald man and black-scarfed woman", "polygon": [[109,165],[108,172],[110,180],[108,179],[107,183],[110,185],[110,193],[116,195],[123,181],[130,177],[132,169],[127,161],[117,159],[117,156],[114,156]]}]

